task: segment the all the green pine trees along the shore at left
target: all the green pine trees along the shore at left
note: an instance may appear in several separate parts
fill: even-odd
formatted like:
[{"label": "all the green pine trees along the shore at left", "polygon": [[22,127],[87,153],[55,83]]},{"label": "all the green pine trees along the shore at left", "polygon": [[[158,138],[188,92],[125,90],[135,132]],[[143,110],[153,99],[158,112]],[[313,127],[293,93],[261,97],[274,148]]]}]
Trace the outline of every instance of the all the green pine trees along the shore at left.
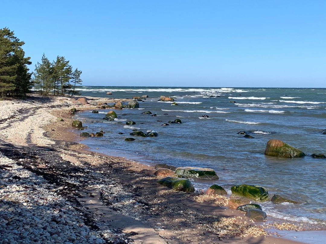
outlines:
[{"label": "all the green pine trees along the shore at left", "polygon": [[32,88],[45,96],[79,94],[75,88],[82,84],[81,70],[73,71],[63,56],[50,62],[43,54],[35,71],[29,72],[27,65],[32,62],[25,57],[24,44],[7,27],[0,29],[0,98],[26,96]]}]

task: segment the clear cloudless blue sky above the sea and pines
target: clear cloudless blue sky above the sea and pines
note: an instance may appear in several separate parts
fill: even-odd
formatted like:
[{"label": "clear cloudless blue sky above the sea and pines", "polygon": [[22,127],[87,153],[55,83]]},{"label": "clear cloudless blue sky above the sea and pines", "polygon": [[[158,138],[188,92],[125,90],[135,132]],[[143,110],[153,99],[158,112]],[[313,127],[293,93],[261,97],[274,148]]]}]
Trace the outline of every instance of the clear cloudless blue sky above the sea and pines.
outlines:
[{"label": "clear cloudless blue sky above the sea and pines", "polygon": [[0,28],[83,85],[326,87],[326,1],[2,1]]}]

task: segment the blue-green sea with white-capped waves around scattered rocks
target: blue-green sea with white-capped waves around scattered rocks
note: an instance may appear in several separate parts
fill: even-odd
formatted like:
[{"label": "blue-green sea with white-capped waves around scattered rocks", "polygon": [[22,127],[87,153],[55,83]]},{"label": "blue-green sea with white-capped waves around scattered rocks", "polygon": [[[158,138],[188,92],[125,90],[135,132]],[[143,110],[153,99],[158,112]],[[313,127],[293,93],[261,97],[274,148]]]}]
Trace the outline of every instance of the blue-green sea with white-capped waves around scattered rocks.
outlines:
[{"label": "blue-green sea with white-capped waves around scattered rocks", "polygon": [[[326,129],[326,89],[84,86],[80,91],[82,96],[105,98],[149,96],[139,101],[139,109],[116,111],[119,119],[115,121],[102,119],[109,109],[99,110],[99,114],[85,111],[76,115],[88,126],[87,132],[106,132],[102,138],[83,141],[93,150],[150,165],[213,168],[219,179],[194,181],[196,189],[206,190],[218,184],[231,193],[234,184],[254,184],[269,193],[293,194],[305,203],[261,205],[271,217],[325,226],[326,160],[310,155],[326,154],[326,135],[321,133]],[[106,95],[107,91],[112,96]],[[158,101],[162,95],[173,97],[179,105]],[[144,111],[157,116],[141,114]],[[209,117],[201,117],[204,114]],[[182,124],[162,126],[176,118]],[[126,125],[129,120],[136,125]],[[124,141],[135,128],[154,130],[158,137]],[[241,130],[254,138],[237,134]],[[307,156],[265,156],[270,139],[282,140]]]}]

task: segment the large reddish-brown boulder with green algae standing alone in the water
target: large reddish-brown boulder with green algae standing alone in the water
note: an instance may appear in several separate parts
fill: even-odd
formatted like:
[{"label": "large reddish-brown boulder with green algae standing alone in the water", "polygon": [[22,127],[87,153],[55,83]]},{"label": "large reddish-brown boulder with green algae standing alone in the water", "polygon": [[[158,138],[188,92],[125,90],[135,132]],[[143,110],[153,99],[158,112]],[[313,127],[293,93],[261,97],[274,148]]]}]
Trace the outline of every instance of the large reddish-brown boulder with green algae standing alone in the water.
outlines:
[{"label": "large reddish-brown boulder with green algae standing alone in the water", "polygon": [[267,142],[265,155],[290,159],[305,156],[303,151],[276,139]]}]

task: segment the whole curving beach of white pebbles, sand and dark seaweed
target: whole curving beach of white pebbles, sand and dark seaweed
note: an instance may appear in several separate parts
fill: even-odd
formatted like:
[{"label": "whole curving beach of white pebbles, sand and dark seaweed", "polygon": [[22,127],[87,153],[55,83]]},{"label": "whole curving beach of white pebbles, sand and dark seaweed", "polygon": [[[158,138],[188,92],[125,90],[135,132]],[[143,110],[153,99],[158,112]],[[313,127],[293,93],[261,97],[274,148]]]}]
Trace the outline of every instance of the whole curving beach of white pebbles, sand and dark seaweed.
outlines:
[{"label": "whole curving beach of white pebbles, sand and dark seaweed", "polygon": [[315,228],[255,223],[226,197],[172,191],[153,167],[89,151],[60,99],[0,101],[1,243],[294,244],[277,228]]}]

